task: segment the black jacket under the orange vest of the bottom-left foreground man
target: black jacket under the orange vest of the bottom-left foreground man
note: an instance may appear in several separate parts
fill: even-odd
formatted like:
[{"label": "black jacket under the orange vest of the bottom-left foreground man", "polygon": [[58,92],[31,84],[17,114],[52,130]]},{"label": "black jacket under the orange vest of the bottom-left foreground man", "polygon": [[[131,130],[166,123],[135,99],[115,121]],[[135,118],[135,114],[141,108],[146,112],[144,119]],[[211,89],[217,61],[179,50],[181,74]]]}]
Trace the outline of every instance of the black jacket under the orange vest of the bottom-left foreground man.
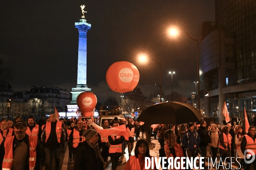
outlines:
[{"label": "black jacket under the orange vest of the bottom-left foreground man", "polygon": [[[14,136],[14,140],[16,140],[16,136]],[[24,138],[24,142],[27,144],[27,159],[26,159],[26,165],[25,170],[29,170],[29,135],[26,134]],[[5,148],[4,148],[5,140],[0,145],[0,170],[2,169],[2,162],[5,155]],[[15,142],[13,142],[13,156],[15,156]],[[42,161],[42,151],[40,147],[40,142],[37,141],[37,145],[35,147],[36,150],[36,161],[35,161],[35,170],[40,170],[41,161]]]}]

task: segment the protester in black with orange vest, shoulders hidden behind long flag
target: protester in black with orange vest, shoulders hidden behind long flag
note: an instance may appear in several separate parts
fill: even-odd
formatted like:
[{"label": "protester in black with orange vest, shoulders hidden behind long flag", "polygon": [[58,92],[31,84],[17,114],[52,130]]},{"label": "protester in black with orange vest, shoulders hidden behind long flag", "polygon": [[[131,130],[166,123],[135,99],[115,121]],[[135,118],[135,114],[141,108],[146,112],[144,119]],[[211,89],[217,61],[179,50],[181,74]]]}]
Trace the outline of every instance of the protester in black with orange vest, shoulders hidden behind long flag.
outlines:
[{"label": "protester in black with orange vest, shoulders hidden behind long flag", "polygon": [[[118,126],[117,121],[113,121],[111,124],[112,128]],[[109,143],[109,156],[112,162],[112,170],[116,170],[118,167],[118,160],[122,154],[122,143],[125,141],[124,136],[108,136]]]}]

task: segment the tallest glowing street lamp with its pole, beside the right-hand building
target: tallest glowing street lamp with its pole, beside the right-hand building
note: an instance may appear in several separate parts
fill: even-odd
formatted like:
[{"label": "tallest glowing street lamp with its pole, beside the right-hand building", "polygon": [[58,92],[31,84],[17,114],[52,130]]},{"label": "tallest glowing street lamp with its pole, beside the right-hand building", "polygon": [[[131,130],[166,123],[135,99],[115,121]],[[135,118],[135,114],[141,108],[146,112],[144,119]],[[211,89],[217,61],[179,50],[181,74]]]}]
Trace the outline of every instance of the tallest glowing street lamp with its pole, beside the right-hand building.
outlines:
[{"label": "tallest glowing street lamp with its pole, beside the right-hand building", "polygon": [[[197,82],[199,82],[199,48],[198,48],[198,34],[197,34],[197,38],[192,38],[188,35],[187,32],[185,32],[183,29],[182,30],[191,40],[197,42]],[[178,31],[177,29],[169,29],[168,30],[168,34],[172,37],[177,36],[178,35]],[[200,94],[200,85],[198,84],[197,86],[197,93]],[[200,96],[198,96],[198,109],[200,110]]]}]

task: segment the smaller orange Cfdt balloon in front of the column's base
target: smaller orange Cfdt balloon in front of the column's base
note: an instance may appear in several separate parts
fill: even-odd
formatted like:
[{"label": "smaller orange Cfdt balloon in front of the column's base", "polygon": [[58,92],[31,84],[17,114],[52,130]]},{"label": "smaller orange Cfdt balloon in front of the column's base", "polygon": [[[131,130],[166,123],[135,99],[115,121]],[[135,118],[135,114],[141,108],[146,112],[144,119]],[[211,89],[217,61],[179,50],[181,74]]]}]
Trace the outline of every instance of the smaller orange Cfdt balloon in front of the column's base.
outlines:
[{"label": "smaller orange Cfdt balloon in front of the column's base", "polygon": [[92,92],[82,92],[77,96],[77,106],[84,117],[90,117],[93,114],[96,104],[97,98]]}]

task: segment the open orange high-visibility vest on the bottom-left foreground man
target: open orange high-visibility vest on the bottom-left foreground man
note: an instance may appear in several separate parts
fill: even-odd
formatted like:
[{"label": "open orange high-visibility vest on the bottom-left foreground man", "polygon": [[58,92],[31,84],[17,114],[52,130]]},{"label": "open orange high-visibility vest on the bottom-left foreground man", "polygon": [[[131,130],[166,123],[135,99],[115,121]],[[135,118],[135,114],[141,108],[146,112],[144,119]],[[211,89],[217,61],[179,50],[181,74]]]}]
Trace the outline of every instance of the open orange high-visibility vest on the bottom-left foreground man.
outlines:
[{"label": "open orange high-visibility vest on the bottom-left foreground man", "polygon": [[[4,148],[5,148],[5,155],[3,157],[3,170],[11,170],[12,169],[12,163],[13,163],[13,139],[12,138],[6,138],[6,141],[4,142]],[[29,170],[34,170],[35,168],[35,160],[36,160],[36,145],[37,145],[36,138],[29,136]]]}]

